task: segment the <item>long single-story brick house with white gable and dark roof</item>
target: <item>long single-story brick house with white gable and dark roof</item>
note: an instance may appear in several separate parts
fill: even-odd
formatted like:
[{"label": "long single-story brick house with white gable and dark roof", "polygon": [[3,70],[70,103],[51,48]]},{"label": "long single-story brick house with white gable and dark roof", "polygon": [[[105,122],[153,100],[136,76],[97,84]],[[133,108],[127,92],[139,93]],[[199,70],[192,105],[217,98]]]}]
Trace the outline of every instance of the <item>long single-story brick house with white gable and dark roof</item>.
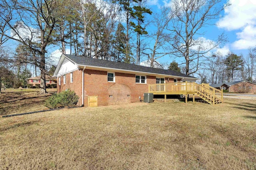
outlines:
[{"label": "long single-story brick house with white gable and dark roof", "polygon": [[80,97],[78,105],[84,106],[89,105],[90,96],[97,96],[99,106],[140,102],[149,84],[197,80],[173,70],[66,54],[62,54],[54,76],[58,93],[70,89]]}]

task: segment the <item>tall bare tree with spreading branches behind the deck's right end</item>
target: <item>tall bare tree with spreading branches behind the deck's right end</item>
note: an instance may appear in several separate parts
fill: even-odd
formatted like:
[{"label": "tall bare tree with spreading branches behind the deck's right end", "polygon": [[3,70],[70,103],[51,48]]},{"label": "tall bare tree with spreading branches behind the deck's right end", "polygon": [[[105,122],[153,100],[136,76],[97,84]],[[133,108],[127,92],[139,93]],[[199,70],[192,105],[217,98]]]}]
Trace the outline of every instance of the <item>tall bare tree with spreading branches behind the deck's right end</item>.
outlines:
[{"label": "tall bare tree with spreading branches behind the deck's right end", "polygon": [[173,0],[172,12],[174,18],[168,27],[174,32],[170,44],[176,57],[185,59],[186,74],[193,74],[200,68],[203,57],[226,42],[224,34],[215,41],[206,40],[202,28],[213,25],[212,21],[220,18],[220,13],[226,6],[221,0]]}]

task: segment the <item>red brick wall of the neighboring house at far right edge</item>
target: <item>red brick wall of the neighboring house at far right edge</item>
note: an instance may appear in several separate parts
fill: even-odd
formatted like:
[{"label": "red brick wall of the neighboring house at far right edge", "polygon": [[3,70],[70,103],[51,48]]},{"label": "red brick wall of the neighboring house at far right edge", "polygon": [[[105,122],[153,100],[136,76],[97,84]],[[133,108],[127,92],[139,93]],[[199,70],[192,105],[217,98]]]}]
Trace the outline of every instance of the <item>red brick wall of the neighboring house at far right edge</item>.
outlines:
[{"label": "red brick wall of the neighboring house at far right edge", "polygon": [[[244,86],[246,86],[246,89],[244,89]],[[252,86],[252,89],[249,89],[249,86]],[[241,89],[239,89],[239,87],[241,87]],[[230,92],[256,93],[256,84],[252,84],[250,82],[240,82],[238,84],[231,86]]]}]

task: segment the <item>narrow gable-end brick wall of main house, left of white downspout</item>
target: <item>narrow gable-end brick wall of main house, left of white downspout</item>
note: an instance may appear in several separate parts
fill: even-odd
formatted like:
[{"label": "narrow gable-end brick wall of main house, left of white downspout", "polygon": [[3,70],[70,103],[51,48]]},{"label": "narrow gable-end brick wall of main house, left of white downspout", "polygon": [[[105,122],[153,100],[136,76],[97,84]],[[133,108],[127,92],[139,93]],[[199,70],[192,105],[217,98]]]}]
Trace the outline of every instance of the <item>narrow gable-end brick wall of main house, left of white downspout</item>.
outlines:
[{"label": "narrow gable-end brick wall of main house, left of white downspout", "polygon": [[[59,85],[59,78],[61,85]],[[73,82],[70,82],[70,73],[66,74],[66,84],[63,84],[63,81],[63,75],[57,78],[57,92],[59,93],[66,89],[74,91],[79,97],[78,106],[82,105],[82,70],[73,72]]]}]

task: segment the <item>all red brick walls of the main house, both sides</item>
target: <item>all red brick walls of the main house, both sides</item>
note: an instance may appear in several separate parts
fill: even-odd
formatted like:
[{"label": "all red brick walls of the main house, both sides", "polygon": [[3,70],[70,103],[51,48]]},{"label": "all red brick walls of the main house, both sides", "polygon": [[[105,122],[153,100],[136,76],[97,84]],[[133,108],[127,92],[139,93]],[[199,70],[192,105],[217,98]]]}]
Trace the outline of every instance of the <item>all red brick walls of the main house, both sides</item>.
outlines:
[{"label": "all red brick walls of the main house, both sides", "polygon": [[[88,106],[88,96],[98,96],[98,106],[140,102],[139,96],[143,100],[143,94],[148,93],[148,84],[156,84],[156,76],[146,76],[146,84],[138,84],[135,74],[115,72],[115,82],[108,82],[107,74],[107,71],[84,70],[84,106]],[[169,78],[168,83],[173,82],[174,79]],[[70,73],[66,74],[66,84],[63,84],[63,76],[61,85],[57,79],[57,89],[58,93],[73,90],[80,97],[78,105],[82,104],[82,70],[73,72],[73,83],[70,83]]]}]

